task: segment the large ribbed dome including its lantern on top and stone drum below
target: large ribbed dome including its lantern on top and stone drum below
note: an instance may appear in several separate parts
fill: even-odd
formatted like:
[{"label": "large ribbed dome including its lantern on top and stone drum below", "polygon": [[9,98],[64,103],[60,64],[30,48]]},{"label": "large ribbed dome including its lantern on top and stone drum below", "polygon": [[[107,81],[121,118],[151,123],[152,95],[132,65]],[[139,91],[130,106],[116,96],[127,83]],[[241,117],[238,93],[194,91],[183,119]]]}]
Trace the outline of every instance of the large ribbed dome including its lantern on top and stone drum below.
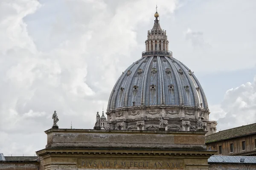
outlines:
[{"label": "large ribbed dome including its lantern on top and stone drum below", "polygon": [[172,56],[157,17],[145,47],[113,87],[106,129],[214,133],[217,123],[209,121],[204,90],[194,73]]}]

